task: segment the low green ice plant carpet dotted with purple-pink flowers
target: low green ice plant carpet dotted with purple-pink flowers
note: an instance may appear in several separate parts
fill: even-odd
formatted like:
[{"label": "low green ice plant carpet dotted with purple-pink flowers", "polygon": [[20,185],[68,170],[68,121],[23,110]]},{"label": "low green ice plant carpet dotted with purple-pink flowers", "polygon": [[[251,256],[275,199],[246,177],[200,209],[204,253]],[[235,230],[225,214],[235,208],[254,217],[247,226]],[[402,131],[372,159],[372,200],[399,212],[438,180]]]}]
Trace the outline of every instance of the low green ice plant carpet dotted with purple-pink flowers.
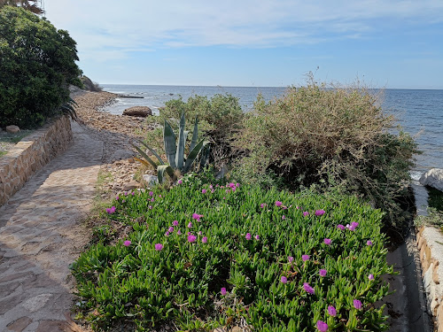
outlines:
[{"label": "low green ice plant carpet dotted with purple-pink flowers", "polygon": [[104,215],[133,232],[72,265],[93,328],[387,328],[382,213],[354,197],[183,180],[118,198]]}]

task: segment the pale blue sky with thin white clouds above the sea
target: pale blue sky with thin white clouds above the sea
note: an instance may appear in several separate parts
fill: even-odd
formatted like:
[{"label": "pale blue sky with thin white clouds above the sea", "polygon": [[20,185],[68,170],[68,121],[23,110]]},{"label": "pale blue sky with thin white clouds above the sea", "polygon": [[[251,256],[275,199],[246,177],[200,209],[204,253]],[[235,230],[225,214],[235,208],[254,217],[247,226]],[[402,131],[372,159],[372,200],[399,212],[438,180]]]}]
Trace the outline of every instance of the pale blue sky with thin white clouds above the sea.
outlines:
[{"label": "pale blue sky with thin white clouds above the sea", "polygon": [[101,84],[443,89],[443,0],[44,0]]}]

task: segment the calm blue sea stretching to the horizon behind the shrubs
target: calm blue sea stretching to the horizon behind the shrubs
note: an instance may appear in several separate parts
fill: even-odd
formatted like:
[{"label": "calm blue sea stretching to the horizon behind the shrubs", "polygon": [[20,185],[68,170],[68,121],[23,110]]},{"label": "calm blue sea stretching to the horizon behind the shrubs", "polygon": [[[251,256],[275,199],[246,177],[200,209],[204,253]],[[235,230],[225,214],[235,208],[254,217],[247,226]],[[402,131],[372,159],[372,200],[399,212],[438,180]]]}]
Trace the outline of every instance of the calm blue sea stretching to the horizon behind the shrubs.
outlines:
[{"label": "calm blue sea stretching to the horizon behind the shrubs", "polygon": [[[111,85],[104,84],[109,92],[129,95],[136,98],[117,98],[116,103],[105,108],[106,112],[121,114],[131,106],[149,106],[154,113],[168,100],[192,95],[213,97],[215,94],[229,93],[240,98],[245,111],[252,109],[259,93],[266,100],[280,97],[285,88],[267,87],[187,87],[159,85]],[[375,91],[377,92],[377,91]],[[401,127],[416,136],[419,148],[424,151],[416,156],[416,167],[411,174],[417,179],[433,167],[443,168],[443,90],[385,89],[382,106],[385,112],[392,113]]]}]

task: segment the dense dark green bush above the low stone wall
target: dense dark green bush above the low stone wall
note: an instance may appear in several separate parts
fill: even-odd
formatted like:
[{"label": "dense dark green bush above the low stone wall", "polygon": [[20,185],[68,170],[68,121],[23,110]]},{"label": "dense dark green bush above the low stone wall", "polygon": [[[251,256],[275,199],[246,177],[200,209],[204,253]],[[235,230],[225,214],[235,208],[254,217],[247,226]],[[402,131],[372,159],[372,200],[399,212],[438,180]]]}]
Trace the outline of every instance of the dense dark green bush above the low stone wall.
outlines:
[{"label": "dense dark green bush above the low stone wall", "polygon": [[0,11],[0,127],[36,127],[81,86],[74,40],[23,8]]}]

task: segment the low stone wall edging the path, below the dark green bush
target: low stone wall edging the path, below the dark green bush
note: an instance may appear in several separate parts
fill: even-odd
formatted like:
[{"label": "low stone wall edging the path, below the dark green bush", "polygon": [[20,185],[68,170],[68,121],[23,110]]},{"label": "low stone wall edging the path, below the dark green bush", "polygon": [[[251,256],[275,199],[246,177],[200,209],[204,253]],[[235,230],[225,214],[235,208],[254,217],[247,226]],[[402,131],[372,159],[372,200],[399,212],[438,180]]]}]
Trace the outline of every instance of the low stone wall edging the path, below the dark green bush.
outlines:
[{"label": "low stone wall edging the path, below the dark green bush", "polygon": [[72,141],[71,121],[61,116],[27,135],[0,158],[0,205]]}]

